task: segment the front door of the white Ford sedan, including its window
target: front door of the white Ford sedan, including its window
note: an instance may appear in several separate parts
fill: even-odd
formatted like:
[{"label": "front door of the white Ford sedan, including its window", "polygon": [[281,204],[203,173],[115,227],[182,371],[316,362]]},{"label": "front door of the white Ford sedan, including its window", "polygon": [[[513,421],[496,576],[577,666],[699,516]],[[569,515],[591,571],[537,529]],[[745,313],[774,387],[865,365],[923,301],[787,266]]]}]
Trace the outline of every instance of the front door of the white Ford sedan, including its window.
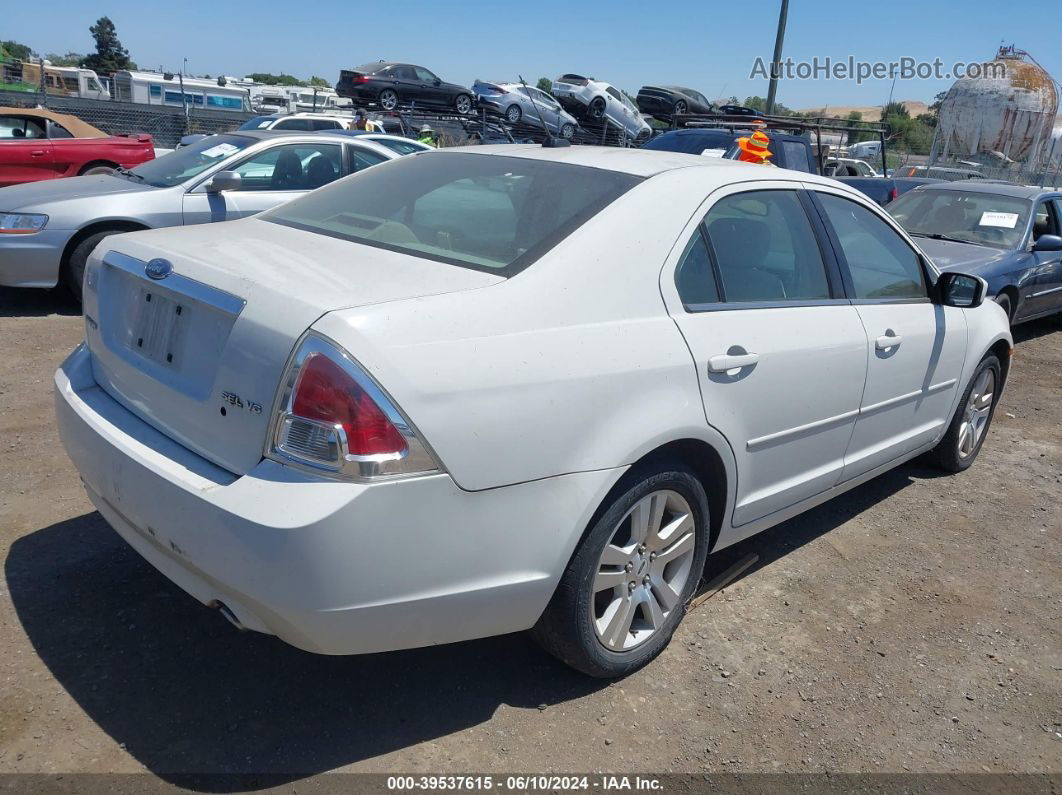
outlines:
[{"label": "front door of the white Ford sedan, including its window", "polygon": [[929,299],[919,253],[872,205],[815,186],[841,277],[867,331],[867,382],[843,480],[939,438],[963,386],[963,310]]}]

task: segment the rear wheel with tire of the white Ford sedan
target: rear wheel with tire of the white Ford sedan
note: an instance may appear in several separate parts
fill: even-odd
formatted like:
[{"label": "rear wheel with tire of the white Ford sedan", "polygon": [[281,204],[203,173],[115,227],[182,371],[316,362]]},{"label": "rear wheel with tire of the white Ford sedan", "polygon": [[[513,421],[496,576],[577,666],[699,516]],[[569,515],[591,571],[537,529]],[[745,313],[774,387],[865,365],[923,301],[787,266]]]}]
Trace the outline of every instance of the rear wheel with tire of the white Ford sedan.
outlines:
[{"label": "rear wheel with tire of the white Ford sedan", "polygon": [[624,476],[532,629],[585,674],[624,676],[671,640],[708,554],[708,501],[685,466],[657,462]]}]

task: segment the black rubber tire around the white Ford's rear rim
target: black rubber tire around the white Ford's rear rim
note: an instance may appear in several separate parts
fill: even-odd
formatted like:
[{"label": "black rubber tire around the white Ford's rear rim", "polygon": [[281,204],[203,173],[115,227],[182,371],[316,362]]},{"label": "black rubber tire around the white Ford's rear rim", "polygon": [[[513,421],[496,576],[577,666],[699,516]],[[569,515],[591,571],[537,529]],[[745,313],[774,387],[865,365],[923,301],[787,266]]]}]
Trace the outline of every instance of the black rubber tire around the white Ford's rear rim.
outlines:
[{"label": "black rubber tire around the white Ford's rear rim", "polygon": [[[651,491],[671,489],[685,498],[693,512],[697,546],[692,568],[676,607],[667,623],[641,645],[628,652],[612,652],[597,638],[590,621],[590,584],[597,574],[601,550],[616,525],[631,507]],[[670,642],[704,572],[710,538],[708,501],[692,471],[682,465],[639,467],[629,472],[617,488],[609,507],[593,522],[572,556],[558,586],[553,600],[534,635],[546,649],[583,673],[597,677],[624,676],[652,660]]]}]

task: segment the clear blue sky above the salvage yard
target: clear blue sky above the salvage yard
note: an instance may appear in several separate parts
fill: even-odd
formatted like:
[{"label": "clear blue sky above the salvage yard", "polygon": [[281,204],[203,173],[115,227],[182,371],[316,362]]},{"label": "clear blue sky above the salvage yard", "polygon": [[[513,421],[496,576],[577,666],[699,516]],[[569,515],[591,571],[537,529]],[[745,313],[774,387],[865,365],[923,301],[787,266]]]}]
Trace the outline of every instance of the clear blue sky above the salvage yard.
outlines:
[{"label": "clear blue sky above the salvage yard", "polygon": [[[511,80],[521,73],[534,81],[570,71],[632,93],[646,83],[679,83],[713,99],[743,99],[767,93],[766,80],[749,75],[756,56],[770,59],[780,2],[258,0],[237,5],[182,0],[108,8],[106,3],[49,0],[47,12],[33,3],[5,6],[0,38],[39,52],[90,50],[88,27],[107,14],[144,68],[176,70],[187,57],[196,74],[286,71],[335,81],[343,67],[387,58],[421,64],[465,85],[476,77]],[[1060,80],[1060,31],[1058,0],[791,0],[784,54],[795,61],[939,57],[948,68],[989,59],[1000,42],[1013,42]],[[895,98],[931,101],[948,85],[898,81]],[[778,101],[794,108],[879,105],[889,89],[889,81],[791,81],[781,85]]]}]

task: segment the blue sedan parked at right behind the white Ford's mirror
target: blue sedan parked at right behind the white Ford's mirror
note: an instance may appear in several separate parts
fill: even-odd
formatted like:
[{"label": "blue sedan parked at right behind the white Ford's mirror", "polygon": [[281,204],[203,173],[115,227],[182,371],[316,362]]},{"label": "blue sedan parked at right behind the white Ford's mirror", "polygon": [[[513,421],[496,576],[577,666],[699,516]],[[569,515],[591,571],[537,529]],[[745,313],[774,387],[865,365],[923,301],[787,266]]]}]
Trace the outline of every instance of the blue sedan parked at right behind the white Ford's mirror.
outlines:
[{"label": "blue sedan parked at right behind the white Ford's mirror", "polygon": [[1062,311],[1062,191],[942,183],[886,209],[938,267],[988,281],[1012,324]]}]

